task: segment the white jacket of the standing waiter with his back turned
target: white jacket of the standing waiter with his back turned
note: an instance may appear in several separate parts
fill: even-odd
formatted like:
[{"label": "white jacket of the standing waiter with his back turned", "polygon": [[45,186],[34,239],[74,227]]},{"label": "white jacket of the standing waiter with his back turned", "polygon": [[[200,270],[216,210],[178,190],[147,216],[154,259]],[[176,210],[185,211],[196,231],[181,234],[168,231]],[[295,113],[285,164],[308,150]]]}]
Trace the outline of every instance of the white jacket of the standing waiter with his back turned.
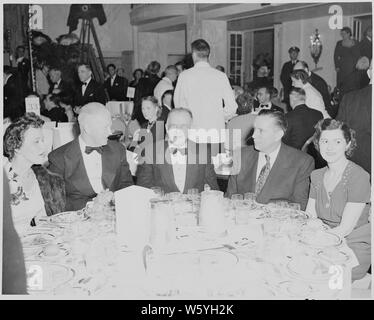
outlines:
[{"label": "white jacket of the standing waiter with his back turned", "polygon": [[[225,108],[222,108],[222,100]],[[191,129],[213,129],[210,135],[212,143],[224,142],[225,134],[221,134],[221,130],[225,129],[225,121],[231,119],[238,108],[226,74],[204,61],[197,62],[193,68],[179,75],[174,104],[176,108],[191,110]],[[190,133],[189,138],[194,142],[208,142],[206,135],[193,131]]]}]

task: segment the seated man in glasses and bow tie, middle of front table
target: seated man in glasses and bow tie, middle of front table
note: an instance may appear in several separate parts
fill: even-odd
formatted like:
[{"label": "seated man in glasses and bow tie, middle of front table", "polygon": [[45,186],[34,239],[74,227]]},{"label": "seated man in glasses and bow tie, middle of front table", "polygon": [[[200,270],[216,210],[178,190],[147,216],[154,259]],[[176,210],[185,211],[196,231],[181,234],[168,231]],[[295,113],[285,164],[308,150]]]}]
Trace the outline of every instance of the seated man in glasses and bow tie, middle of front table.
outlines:
[{"label": "seated man in glasses and bow tie, middle of front table", "polygon": [[184,108],[173,109],[167,120],[168,141],[157,141],[153,152],[145,156],[137,169],[137,184],[161,187],[164,192],[187,193],[188,189],[204,191],[204,185],[218,190],[214,166],[200,161],[197,145],[187,139],[192,113]]}]

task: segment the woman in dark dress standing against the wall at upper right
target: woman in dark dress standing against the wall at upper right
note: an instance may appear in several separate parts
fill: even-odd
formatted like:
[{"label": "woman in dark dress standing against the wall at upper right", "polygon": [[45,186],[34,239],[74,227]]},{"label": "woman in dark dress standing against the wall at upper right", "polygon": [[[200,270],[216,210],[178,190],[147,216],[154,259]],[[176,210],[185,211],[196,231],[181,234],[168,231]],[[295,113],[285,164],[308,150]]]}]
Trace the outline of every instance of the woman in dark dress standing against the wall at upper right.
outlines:
[{"label": "woman in dark dress standing against the wall at upper right", "polygon": [[336,69],[336,86],[342,94],[360,88],[360,73],[356,64],[360,58],[360,48],[355,39],[352,39],[352,30],[344,27],[340,31],[342,40],[338,41],[334,51]]}]

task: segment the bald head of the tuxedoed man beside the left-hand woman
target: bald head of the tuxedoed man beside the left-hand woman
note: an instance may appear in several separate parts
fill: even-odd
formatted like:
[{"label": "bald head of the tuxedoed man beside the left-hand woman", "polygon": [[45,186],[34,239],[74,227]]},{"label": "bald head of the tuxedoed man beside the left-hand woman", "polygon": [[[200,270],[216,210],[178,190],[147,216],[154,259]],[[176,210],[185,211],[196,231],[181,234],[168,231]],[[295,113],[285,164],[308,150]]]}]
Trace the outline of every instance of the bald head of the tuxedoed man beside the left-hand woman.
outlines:
[{"label": "bald head of the tuxedoed man beside the left-hand woman", "polygon": [[88,103],[80,109],[78,122],[83,140],[90,146],[102,146],[111,134],[112,118],[102,104]]}]

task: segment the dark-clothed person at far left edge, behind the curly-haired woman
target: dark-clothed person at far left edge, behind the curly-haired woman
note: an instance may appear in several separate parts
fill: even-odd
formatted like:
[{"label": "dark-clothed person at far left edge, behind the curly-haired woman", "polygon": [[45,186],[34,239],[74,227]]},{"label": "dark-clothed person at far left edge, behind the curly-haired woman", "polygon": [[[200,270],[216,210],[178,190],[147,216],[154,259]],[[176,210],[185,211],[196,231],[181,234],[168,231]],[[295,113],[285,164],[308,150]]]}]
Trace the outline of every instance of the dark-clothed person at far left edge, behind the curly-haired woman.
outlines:
[{"label": "dark-clothed person at far left edge, behind the curly-haired woman", "polygon": [[12,73],[10,66],[3,68],[3,117],[15,119],[25,112],[22,84],[20,79]]}]

